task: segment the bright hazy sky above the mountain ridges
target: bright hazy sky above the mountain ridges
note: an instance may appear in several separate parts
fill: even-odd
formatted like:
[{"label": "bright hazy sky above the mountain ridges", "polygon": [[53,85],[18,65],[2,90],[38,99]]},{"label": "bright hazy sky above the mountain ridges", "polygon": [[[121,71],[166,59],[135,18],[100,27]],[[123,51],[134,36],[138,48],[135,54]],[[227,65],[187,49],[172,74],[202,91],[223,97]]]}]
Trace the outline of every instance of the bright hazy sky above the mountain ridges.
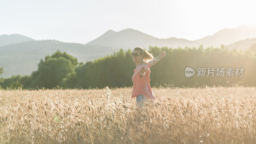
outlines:
[{"label": "bright hazy sky above the mountain ridges", "polygon": [[196,40],[256,24],[255,6],[255,0],[0,0],[0,35],[86,44],[109,29],[132,28],[157,38]]}]

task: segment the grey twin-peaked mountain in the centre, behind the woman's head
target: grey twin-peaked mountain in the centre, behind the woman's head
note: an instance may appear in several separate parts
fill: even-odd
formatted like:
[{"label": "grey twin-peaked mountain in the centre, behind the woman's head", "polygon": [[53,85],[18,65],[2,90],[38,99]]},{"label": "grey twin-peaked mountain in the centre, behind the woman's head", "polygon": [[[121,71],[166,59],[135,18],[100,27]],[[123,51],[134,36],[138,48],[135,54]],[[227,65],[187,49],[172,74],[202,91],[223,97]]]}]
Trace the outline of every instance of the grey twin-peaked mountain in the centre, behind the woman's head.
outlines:
[{"label": "grey twin-peaked mountain in the centre, behind the woman's head", "polygon": [[[197,42],[192,42],[182,38],[179,39],[172,37],[167,39],[159,39],[132,28],[127,28],[119,32],[112,31],[111,34],[108,34],[108,32],[87,43],[86,45],[101,45],[115,48],[123,48],[124,50],[127,50],[129,48],[133,49],[135,47],[148,49],[150,45],[158,47],[167,46],[172,48],[185,47],[187,45],[200,45]],[[108,34],[108,36],[106,34]]]}]

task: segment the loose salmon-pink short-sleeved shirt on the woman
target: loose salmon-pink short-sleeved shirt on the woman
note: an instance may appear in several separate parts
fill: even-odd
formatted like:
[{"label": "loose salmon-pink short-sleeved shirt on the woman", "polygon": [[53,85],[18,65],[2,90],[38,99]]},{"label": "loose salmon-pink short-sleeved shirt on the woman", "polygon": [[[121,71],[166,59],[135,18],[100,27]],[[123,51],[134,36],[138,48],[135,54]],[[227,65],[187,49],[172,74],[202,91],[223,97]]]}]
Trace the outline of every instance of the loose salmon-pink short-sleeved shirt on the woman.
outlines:
[{"label": "loose salmon-pink short-sleeved shirt on the woman", "polygon": [[[145,75],[140,78],[140,68],[142,66],[145,66],[146,72]],[[132,90],[132,96],[131,98],[137,97],[140,94],[143,94],[145,97],[147,97],[150,100],[155,100],[156,96],[153,93],[151,87],[150,87],[150,79],[149,79],[149,62],[147,65],[145,63],[141,64],[138,68],[134,69],[134,74],[132,76],[132,82],[133,82],[133,90]]]}]

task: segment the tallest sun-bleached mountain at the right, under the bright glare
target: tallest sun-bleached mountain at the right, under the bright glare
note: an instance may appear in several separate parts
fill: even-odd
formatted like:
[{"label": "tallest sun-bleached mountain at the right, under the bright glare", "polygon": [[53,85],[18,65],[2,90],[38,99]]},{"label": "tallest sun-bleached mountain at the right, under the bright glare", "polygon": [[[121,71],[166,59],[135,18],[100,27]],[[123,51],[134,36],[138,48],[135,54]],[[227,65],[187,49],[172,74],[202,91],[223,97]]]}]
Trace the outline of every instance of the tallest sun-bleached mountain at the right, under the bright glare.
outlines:
[{"label": "tallest sun-bleached mountain at the right, under the bright glare", "polygon": [[233,42],[246,38],[256,37],[256,24],[240,25],[237,28],[224,28],[212,36],[205,36],[195,40],[204,46],[220,46],[220,44],[228,45]]}]

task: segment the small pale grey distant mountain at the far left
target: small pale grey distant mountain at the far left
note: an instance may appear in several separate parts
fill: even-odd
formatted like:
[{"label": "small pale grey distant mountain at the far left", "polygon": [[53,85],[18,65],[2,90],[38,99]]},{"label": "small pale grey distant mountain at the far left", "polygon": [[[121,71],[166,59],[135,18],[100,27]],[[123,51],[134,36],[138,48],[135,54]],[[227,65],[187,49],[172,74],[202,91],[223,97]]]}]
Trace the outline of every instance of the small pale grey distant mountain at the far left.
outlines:
[{"label": "small pale grey distant mountain at the far left", "polygon": [[32,40],[34,39],[19,34],[0,35],[0,46]]}]

